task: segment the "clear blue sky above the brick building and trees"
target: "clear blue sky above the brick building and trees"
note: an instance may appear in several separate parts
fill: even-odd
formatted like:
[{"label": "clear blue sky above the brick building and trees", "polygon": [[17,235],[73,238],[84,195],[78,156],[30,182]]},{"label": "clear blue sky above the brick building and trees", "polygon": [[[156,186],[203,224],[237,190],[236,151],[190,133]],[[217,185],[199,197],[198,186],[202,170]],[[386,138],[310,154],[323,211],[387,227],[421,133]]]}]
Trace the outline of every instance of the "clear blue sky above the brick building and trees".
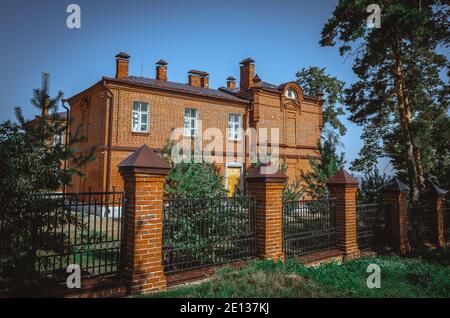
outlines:
[{"label": "clear blue sky above the brick building and trees", "polygon": [[[66,27],[66,7],[81,7],[81,29]],[[26,117],[32,89],[42,72],[51,74],[52,91],[66,97],[101,76],[113,76],[114,55],[131,55],[130,73],[154,77],[154,63],[169,62],[171,81],[186,82],[187,71],[209,72],[210,86],[239,76],[239,61],[252,57],[261,79],[274,84],[295,79],[302,67],[326,67],[351,83],[351,60],[337,48],[320,47],[324,23],[336,1],[144,1],[2,0],[0,3],[0,121],[22,106]],[[359,127],[342,118],[346,160],[361,147]],[[384,169],[386,162],[380,163]]]}]

